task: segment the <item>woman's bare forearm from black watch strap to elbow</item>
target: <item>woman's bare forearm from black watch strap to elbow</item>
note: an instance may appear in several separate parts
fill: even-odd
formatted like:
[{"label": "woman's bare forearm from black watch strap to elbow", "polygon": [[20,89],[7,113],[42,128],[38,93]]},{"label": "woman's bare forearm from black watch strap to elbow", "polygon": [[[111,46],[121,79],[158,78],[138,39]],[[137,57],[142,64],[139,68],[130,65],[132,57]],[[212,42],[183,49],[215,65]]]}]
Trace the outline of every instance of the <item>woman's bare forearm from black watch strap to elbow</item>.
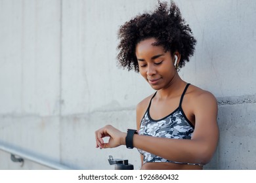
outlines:
[{"label": "woman's bare forearm from black watch strap to elbow", "polygon": [[133,146],[171,161],[205,164],[211,154],[207,143],[193,139],[167,139],[134,135]]}]

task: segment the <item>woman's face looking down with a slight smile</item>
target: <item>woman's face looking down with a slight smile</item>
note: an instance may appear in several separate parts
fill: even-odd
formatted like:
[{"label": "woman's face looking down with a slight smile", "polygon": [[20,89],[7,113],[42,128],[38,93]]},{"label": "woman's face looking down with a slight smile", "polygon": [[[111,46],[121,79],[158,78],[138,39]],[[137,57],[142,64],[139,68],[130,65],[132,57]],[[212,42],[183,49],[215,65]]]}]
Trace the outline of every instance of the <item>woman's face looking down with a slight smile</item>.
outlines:
[{"label": "woman's face looking down with a slight smile", "polygon": [[[177,71],[174,56],[165,52],[163,46],[153,46],[155,38],[140,41],[135,50],[142,75],[154,90],[165,89],[171,84]],[[179,61],[178,61],[179,62]]]}]

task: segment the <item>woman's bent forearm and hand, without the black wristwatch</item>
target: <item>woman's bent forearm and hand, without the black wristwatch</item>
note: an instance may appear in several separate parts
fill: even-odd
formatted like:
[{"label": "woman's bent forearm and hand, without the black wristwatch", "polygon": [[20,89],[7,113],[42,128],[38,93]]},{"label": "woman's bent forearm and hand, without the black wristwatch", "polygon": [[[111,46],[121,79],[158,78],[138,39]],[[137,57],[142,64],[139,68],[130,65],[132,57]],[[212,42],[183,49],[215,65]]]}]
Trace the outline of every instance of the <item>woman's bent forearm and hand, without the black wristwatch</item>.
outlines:
[{"label": "woman's bent forearm and hand, without the black wristwatch", "polygon": [[[127,133],[123,133],[112,125],[106,125],[95,132],[96,148],[114,148],[125,145]],[[208,163],[215,152],[217,138],[198,137],[194,139],[168,139],[151,137],[146,135],[134,135],[133,146],[146,152],[160,156],[171,161],[184,163]],[[207,134],[207,136],[213,136]],[[102,138],[110,137],[109,142],[105,143]]]}]

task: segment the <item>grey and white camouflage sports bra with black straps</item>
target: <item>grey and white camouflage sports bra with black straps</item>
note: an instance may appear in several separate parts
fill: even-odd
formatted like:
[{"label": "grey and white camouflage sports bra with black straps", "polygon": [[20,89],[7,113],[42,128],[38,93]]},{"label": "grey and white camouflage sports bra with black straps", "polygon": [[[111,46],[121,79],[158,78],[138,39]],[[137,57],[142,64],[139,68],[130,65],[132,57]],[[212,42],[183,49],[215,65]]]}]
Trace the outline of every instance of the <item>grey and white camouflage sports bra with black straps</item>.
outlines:
[{"label": "grey and white camouflage sports bra with black straps", "polygon": [[[148,135],[153,137],[164,137],[169,139],[191,139],[192,133],[194,132],[194,125],[186,118],[184,111],[181,108],[182,99],[186,90],[190,84],[186,84],[186,88],[181,95],[181,101],[179,103],[179,107],[171,112],[165,118],[161,120],[153,120],[150,117],[150,105],[152,99],[155,97],[156,93],[153,95],[152,99],[150,99],[150,103],[148,105],[148,109],[144,114],[140,122],[139,135]],[[200,165],[195,163],[182,163],[177,161],[170,161],[160,156],[156,156],[149,152],[145,152],[144,150],[138,149],[140,154],[144,156],[143,163],[147,162],[171,162],[171,163],[179,163],[186,165]]]}]

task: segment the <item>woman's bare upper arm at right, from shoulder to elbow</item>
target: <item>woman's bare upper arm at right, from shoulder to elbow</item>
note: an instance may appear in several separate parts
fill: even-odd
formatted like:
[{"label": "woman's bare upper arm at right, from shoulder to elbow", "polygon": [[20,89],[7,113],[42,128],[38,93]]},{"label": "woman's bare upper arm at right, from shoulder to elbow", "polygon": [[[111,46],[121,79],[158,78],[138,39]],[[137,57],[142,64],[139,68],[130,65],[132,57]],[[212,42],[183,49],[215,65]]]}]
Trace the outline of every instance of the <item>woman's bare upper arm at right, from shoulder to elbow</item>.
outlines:
[{"label": "woman's bare upper arm at right, from shoulder to elbow", "polygon": [[192,139],[202,142],[203,154],[211,159],[219,140],[217,125],[217,101],[209,92],[203,92],[194,101],[196,125]]}]

